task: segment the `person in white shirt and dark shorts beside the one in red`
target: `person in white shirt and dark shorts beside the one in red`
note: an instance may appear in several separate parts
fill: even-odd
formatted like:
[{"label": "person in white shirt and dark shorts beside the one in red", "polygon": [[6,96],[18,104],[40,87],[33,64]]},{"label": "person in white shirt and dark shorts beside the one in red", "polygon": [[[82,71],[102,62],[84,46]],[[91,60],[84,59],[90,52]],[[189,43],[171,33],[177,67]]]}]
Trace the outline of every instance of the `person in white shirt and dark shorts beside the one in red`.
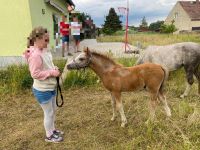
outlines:
[{"label": "person in white shirt and dark shorts beside the one in red", "polygon": [[73,22],[71,22],[71,35],[74,38],[74,45],[75,45],[75,53],[79,51],[79,44],[80,44],[80,33],[82,29],[82,24],[78,22],[77,17],[73,17]]}]

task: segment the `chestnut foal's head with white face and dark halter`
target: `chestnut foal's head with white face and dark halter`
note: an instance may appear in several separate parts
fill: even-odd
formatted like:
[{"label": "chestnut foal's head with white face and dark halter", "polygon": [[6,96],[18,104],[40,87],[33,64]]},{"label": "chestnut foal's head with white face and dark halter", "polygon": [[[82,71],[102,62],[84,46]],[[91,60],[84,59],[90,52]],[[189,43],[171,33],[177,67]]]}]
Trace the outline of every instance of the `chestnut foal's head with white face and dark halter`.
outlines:
[{"label": "chestnut foal's head with white face and dark halter", "polygon": [[81,54],[79,54],[76,58],[74,58],[67,64],[67,69],[72,70],[72,69],[86,68],[89,67],[90,63],[91,63],[91,52],[87,47]]}]

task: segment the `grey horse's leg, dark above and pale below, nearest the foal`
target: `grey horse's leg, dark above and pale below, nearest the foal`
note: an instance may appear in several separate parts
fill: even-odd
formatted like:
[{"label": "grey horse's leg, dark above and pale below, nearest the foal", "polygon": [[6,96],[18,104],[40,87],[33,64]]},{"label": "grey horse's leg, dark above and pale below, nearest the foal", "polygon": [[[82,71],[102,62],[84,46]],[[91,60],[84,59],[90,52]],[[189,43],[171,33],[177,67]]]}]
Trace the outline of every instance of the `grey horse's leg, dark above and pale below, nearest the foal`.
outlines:
[{"label": "grey horse's leg, dark above and pale below, nearest the foal", "polygon": [[191,86],[194,83],[194,78],[193,78],[193,74],[194,74],[194,67],[191,66],[184,66],[185,72],[186,72],[186,78],[187,78],[187,87],[184,91],[184,93],[180,96],[181,98],[184,98],[185,96],[188,96]]}]

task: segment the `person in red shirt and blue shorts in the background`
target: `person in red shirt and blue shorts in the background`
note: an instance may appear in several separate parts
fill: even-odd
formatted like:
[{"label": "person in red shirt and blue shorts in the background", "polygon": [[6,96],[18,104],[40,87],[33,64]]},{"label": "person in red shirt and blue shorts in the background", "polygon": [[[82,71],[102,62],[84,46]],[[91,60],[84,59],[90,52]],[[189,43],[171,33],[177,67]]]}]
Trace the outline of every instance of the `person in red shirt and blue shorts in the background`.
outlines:
[{"label": "person in red shirt and blue shorts in the background", "polygon": [[65,52],[67,55],[72,56],[69,52],[69,23],[66,22],[67,18],[65,15],[62,16],[62,21],[60,22],[60,34],[62,36],[62,57],[65,56]]}]

